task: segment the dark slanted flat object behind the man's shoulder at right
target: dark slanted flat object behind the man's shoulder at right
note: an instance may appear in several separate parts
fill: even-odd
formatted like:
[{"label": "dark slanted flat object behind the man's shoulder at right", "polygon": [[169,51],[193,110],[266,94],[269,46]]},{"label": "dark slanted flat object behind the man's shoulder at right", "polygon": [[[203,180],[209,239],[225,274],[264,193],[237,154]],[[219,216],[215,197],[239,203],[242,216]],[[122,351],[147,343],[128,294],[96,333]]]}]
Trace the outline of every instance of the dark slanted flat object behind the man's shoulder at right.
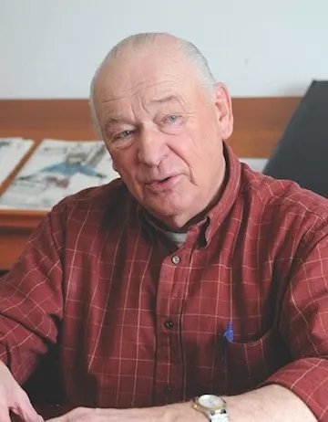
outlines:
[{"label": "dark slanted flat object behind the man's shoulder at right", "polygon": [[328,81],[313,80],[263,173],[328,198]]}]

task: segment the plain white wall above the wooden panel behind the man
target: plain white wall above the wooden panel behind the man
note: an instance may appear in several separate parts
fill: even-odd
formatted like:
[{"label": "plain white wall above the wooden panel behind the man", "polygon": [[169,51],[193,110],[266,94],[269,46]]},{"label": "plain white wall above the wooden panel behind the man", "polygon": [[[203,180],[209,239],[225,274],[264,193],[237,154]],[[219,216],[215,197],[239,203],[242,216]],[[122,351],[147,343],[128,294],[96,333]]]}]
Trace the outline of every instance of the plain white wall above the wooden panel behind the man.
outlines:
[{"label": "plain white wall above the wooden panel behind the man", "polygon": [[0,98],[87,97],[122,37],[193,41],[233,96],[302,95],[328,79],[327,0],[0,0]]}]

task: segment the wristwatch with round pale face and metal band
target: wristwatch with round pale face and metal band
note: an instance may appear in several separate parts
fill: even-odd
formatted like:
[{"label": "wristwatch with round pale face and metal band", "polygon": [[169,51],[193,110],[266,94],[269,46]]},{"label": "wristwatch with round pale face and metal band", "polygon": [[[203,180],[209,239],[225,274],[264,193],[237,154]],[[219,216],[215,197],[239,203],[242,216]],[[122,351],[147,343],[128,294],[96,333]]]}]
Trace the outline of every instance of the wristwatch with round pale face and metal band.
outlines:
[{"label": "wristwatch with round pale face and metal band", "polygon": [[193,399],[192,407],[210,422],[229,422],[227,404],[220,396],[202,395]]}]

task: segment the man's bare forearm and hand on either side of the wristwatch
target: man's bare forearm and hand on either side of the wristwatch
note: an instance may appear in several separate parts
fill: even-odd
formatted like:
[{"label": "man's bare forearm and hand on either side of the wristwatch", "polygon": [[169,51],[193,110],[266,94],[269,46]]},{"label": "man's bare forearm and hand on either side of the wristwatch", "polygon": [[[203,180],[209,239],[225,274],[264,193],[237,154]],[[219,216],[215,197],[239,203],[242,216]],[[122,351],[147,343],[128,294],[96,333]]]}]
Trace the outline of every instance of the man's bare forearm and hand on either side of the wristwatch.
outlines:
[{"label": "man's bare forearm and hand on either side of the wristwatch", "polygon": [[[226,397],[230,422],[315,422],[308,406],[280,385],[268,385],[241,396]],[[292,409],[292,411],[291,411]],[[278,411],[277,411],[278,410]],[[48,422],[206,422],[191,403],[149,409],[77,408]]]}]

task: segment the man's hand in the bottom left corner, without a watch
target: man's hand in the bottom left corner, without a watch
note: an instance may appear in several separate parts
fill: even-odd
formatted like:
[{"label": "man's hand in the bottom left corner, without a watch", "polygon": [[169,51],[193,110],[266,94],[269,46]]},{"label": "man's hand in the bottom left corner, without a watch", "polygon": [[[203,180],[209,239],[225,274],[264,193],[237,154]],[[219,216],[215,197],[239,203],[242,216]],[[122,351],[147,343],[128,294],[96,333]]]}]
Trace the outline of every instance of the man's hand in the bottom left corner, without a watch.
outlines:
[{"label": "man's hand in the bottom left corner, without a watch", "polygon": [[0,362],[0,420],[10,422],[9,411],[24,422],[43,422],[31,405],[26,392],[15,381],[9,369]]}]

